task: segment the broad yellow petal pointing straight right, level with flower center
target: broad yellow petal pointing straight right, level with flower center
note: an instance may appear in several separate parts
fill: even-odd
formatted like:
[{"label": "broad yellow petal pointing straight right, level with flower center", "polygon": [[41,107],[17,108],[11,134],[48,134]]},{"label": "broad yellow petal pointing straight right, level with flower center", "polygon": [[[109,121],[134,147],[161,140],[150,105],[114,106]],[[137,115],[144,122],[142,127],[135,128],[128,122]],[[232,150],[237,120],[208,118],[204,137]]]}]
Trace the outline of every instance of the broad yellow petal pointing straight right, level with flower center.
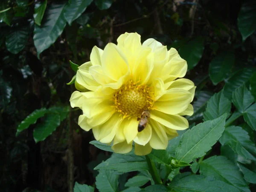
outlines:
[{"label": "broad yellow petal pointing straight right, level with flower center", "polygon": [[154,109],[167,114],[178,114],[185,111],[191,102],[191,93],[180,88],[173,88],[166,91],[155,103]]}]

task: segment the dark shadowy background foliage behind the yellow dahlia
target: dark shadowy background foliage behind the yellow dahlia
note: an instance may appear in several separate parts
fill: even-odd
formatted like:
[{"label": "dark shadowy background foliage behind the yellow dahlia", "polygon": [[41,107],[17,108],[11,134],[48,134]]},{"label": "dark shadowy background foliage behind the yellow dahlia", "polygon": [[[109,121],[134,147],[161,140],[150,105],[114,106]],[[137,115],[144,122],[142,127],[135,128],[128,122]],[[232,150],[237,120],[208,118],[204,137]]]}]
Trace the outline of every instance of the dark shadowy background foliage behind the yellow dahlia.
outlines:
[{"label": "dark shadowy background foliage behind the yellow dahlia", "polygon": [[[251,81],[256,86],[255,1],[88,0],[82,6],[70,2],[0,2],[1,191],[71,191],[73,181],[95,186],[93,168],[111,153],[90,145],[93,134],[77,125],[81,112],[69,107],[75,90],[74,84],[67,85],[75,75],[69,61],[89,61],[94,45],[103,49],[124,32],[138,32],[142,42],[155,38],[187,60],[186,78],[197,85],[190,124],[202,122],[207,101],[223,87],[232,99],[241,84]],[[77,14],[78,6],[86,9]],[[250,91],[256,96],[253,86]],[[53,107],[61,108],[57,115],[44,116]],[[41,118],[16,135],[20,122],[42,108]],[[33,132],[42,124],[49,131],[35,138]],[[255,131],[245,129],[254,141]],[[220,146],[213,146],[211,156],[221,153]],[[132,176],[120,177],[120,183]]]}]

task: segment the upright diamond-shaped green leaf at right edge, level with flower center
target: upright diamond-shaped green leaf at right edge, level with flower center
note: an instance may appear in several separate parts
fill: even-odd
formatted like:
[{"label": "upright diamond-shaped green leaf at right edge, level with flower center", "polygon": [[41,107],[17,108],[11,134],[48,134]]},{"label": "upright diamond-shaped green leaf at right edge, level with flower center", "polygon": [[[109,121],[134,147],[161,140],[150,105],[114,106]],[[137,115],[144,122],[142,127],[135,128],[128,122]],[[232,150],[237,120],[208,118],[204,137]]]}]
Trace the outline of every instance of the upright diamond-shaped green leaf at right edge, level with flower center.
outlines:
[{"label": "upright diamond-shaped green leaf at right edge, level with flower center", "polygon": [[237,88],[233,93],[233,103],[240,113],[243,113],[254,101],[250,91],[245,85]]}]

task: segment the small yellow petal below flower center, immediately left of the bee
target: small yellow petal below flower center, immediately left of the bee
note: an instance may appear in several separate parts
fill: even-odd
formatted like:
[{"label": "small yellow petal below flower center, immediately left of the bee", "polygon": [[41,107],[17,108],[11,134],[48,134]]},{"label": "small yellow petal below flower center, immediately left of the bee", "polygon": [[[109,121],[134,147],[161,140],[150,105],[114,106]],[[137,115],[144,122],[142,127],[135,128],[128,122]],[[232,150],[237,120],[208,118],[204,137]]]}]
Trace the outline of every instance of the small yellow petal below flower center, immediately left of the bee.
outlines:
[{"label": "small yellow petal below flower center, immediately left of the bee", "polygon": [[138,133],[138,124],[136,117],[132,117],[130,119],[124,119],[125,125],[124,125],[124,135],[127,143],[131,143],[134,138],[137,136]]}]

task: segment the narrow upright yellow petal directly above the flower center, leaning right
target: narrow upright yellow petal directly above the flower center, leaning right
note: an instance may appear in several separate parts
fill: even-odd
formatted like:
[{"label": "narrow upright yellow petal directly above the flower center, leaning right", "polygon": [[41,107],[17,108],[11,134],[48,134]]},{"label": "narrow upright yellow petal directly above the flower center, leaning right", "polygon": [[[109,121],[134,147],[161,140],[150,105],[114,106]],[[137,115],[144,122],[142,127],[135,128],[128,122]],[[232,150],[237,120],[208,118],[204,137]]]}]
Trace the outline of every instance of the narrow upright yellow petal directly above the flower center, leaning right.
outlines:
[{"label": "narrow upright yellow petal directly above the flower center, leaning right", "polygon": [[154,54],[151,49],[146,47],[142,49],[135,62],[133,75],[134,81],[140,80],[140,84],[146,84],[150,78],[151,72],[154,68]]}]

